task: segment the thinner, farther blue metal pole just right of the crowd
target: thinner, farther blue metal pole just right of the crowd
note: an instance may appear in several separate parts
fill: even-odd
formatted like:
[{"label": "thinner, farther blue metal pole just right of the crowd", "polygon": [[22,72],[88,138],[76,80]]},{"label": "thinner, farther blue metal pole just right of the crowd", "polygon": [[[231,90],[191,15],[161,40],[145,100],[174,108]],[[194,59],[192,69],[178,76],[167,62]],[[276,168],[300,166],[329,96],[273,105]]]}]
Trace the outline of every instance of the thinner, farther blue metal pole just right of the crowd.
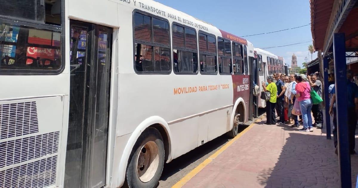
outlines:
[{"label": "thinner, farther blue metal pole just right of the crowd", "polygon": [[323,81],[324,81],[324,104],[325,104],[325,108],[324,108],[324,112],[326,115],[326,137],[327,139],[331,139],[331,119],[330,119],[330,115],[329,115],[329,93],[328,93],[328,58],[324,57],[323,58],[323,71],[324,71],[324,75],[323,75]]}]

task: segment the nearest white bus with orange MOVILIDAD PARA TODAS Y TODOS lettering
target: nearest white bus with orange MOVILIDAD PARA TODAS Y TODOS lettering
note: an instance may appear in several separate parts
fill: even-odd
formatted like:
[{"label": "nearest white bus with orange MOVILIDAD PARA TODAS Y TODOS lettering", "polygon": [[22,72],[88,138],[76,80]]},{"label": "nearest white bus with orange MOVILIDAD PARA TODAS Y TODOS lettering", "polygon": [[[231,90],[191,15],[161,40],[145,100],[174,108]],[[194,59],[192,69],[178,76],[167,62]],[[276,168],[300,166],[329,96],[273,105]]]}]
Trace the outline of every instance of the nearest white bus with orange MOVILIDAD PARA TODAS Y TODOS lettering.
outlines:
[{"label": "nearest white bus with orange MOVILIDAD PARA TODAS Y TODOS lettering", "polygon": [[0,187],[155,187],[252,118],[254,48],[151,0],[4,0]]}]

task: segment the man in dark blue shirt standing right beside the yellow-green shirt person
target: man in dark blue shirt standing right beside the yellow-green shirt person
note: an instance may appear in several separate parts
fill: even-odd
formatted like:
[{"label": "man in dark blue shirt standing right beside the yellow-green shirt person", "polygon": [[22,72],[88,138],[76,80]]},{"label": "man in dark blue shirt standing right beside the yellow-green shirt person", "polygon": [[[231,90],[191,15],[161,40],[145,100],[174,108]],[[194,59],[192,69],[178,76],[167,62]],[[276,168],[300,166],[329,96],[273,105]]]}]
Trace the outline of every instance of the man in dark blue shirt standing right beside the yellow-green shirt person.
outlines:
[{"label": "man in dark blue shirt standing right beside the yellow-green shirt person", "polygon": [[274,78],[276,80],[277,87],[277,101],[276,101],[276,111],[277,115],[280,117],[280,122],[285,124],[285,114],[284,114],[284,102],[285,102],[285,85],[284,82],[280,79],[280,74],[275,73]]}]

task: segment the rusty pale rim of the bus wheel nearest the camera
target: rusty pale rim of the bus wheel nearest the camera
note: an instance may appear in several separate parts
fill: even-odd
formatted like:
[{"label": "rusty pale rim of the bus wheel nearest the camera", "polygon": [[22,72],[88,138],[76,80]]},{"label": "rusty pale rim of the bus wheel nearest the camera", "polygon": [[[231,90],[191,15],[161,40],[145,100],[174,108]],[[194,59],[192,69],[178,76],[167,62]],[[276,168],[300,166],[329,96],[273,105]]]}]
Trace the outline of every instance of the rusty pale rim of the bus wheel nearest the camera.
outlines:
[{"label": "rusty pale rim of the bus wheel nearest the camera", "polygon": [[146,183],[155,175],[159,166],[159,149],[154,141],[148,141],[141,148],[137,160],[137,174]]}]

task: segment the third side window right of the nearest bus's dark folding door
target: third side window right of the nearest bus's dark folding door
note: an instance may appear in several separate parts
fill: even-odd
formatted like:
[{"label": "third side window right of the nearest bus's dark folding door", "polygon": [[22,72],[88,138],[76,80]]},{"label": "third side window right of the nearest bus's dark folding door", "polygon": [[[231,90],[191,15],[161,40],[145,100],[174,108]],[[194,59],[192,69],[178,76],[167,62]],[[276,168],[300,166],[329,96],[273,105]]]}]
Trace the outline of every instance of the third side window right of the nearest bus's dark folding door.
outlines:
[{"label": "third side window right of the nearest bus's dark folding door", "polygon": [[214,37],[199,33],[200,73],[216,74],[216,40]]}]

